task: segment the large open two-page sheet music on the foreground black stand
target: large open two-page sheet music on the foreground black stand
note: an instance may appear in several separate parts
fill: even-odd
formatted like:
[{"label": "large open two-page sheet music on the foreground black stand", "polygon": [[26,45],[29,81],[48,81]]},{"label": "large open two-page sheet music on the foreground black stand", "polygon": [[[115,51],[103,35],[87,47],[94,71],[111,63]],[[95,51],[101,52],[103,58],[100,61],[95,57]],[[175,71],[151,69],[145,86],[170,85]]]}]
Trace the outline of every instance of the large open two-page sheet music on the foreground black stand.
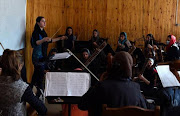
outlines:
[{"label": "large open two-page sheet music on the foreground black stand", "polygon": [[82,96],[90,87],[90,74],[47,72],[45,96]]}]

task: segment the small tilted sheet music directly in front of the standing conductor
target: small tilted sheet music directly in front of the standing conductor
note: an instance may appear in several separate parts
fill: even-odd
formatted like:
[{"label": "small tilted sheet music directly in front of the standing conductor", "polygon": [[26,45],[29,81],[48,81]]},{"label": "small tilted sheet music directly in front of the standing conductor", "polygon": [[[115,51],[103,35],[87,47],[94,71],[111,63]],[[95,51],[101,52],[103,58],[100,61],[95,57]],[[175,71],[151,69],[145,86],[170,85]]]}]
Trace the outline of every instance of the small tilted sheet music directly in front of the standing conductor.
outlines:
[{"label": "small tilted sheet music directly in front of the standing conductor", "polygon": [[67,59],[70,56],[68,52],[56,53],[50,60]]}]

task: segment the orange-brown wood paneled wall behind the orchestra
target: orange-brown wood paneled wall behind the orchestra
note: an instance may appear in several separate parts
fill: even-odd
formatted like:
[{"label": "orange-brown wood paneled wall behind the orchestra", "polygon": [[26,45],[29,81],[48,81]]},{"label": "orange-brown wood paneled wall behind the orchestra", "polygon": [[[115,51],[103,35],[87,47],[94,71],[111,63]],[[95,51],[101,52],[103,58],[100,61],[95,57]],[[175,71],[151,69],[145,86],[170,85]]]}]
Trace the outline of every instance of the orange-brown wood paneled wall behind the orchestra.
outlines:
[{"label": "orange-brown wood paneled wall behind the orchestra", "polygon": [[[78,40],[89,40],[93,29],[116,48],[119,33],[127,32],[129,40],[152,33],[156,40],[165,42],[167,35],[180,37],[180,27],[175,26],[176,0],[27,0],[26,67],[28,81],[33,73],[30,38],[37,16],[46,18],[46,32],[51,37],[64,34],[71,26]],[[180,7],[178,10],[180,14]],[[180,15],[178,15],[180,23]],[[137,46],[143,44],[138,41]],[[49,48],[55,47],[55,43]]]}]

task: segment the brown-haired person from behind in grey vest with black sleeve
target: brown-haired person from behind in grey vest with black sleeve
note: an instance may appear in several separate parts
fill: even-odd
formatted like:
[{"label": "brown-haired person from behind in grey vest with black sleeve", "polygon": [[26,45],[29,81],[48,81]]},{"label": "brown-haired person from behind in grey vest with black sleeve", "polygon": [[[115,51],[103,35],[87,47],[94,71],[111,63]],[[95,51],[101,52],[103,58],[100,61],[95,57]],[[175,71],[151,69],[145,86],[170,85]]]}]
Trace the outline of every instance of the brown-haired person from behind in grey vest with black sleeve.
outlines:
[{"label": "brown-haired person from behind in grey vest with black sleeve", "polygon": [[3,52],[0,76],[0,112],[3,116],[25,116],[25,102],[28,102],[39,115],[45,115],[47,112],[42,101],[34,96],[31,87],[21,79],[23,61],[19,52]]}]

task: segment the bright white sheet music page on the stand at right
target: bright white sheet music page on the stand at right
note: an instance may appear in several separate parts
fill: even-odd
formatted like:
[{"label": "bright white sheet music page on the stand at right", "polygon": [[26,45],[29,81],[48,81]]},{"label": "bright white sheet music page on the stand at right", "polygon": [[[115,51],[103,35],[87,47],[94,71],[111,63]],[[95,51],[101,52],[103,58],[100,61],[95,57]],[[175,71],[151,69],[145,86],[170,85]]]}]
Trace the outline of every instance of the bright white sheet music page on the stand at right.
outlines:
[{"label": "bright white sheet music page on the stand at right", "polygon": [[156,69],[163,87],[180,86],[175,75],[170,71],[169,65],[159,65]]}]

